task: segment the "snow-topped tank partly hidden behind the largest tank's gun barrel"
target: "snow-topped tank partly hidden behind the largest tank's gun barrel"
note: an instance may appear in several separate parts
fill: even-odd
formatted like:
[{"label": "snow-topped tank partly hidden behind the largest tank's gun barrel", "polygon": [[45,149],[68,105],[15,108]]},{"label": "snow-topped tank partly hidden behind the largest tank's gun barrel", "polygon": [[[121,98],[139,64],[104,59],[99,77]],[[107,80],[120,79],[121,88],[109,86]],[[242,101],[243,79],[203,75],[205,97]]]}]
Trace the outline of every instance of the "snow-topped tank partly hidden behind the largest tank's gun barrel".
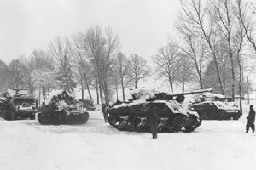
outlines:
[{"label": "snow-topped tank partly hidden behind the largest tank's gun barrel", "polygon": [[237,105],[227,102],[224,95],[204,94],[201,101],[190,105],[203,120],[238,120],[242,113]]}]

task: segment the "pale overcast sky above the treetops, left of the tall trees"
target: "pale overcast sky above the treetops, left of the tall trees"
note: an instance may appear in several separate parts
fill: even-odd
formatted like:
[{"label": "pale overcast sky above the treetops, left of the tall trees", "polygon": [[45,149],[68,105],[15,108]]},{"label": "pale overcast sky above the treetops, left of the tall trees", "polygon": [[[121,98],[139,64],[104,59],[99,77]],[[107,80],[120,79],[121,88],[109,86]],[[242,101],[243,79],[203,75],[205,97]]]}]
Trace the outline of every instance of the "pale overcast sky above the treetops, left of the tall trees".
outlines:
[{"label": "pale overcast sky above the treetops, left of the tall trees", "polygon": [[0,59],[9,63],[56,36],[111,26],[121,51],[150,59],[167,42],[178,0],[0,0]]}]

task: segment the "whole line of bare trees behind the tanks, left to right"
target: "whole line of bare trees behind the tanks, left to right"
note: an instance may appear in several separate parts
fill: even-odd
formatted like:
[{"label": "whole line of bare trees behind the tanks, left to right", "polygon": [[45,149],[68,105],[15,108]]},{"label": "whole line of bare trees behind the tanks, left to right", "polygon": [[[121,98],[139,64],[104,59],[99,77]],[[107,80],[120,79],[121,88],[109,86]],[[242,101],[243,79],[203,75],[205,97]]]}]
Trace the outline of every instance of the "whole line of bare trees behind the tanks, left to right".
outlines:
[{"label": "whole line of bare trees behind the tanks, left to right", "polygon": [[[46,50],[34,50],[9,63],[0,61],[3,88],[27,88],[42,94],[53,88],[73,91],[79,87],[96,102],[125,100],[125,88],[138,88],[148,76],[174,85],[198,84],[219,94],[244,94],[245,75],[253,71],[256,54],[256,5],[246,0],[180,0],[181,9],[173,28],[176,37],[152,56],[154,73],[138,54],[125,56],[118,35],[111,28],[91,26],[69,37],[55,37]],[[170,28],[171,29],[171,28]],[[114,97],[116,94],[116,97]]]}]

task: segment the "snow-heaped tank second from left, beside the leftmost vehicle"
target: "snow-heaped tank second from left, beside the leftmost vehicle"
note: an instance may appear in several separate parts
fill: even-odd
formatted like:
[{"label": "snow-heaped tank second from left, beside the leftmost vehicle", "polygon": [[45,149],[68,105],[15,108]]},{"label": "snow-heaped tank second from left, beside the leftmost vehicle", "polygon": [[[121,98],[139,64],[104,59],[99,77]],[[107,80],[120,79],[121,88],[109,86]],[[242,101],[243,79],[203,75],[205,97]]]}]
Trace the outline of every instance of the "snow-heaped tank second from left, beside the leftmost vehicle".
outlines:
[{"label": "snow-heaped tank second from left, beside the leftmost vehicle", "polygon": [[84,124],[89,118],[89,113],[65,90],[55,94],[39,111],[38,122],[43,125]]}]

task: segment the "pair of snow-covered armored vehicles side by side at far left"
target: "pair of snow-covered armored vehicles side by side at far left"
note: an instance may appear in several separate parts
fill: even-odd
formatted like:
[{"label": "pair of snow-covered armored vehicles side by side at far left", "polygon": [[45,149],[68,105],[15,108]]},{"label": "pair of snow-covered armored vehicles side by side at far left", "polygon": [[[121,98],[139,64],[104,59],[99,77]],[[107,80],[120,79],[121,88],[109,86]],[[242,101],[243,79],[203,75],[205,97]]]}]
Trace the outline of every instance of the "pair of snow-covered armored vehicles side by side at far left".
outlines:
[{"label": "pair of snow-covered armored vehicles side by side at far left", "polygon": [[[38,100],[26,94],[19,94],[20,89],[14,89],[15,94],[9,92],[0,97],[0,116],[8,121],[21,119],[35,119],[43,125],[84,124],[89,113],[84,111],[83,103],[74,99],[67,91],[60,91],[50,99],[47,105],[38,107]],[[91,105],[88,107],[93,108]]]}]

